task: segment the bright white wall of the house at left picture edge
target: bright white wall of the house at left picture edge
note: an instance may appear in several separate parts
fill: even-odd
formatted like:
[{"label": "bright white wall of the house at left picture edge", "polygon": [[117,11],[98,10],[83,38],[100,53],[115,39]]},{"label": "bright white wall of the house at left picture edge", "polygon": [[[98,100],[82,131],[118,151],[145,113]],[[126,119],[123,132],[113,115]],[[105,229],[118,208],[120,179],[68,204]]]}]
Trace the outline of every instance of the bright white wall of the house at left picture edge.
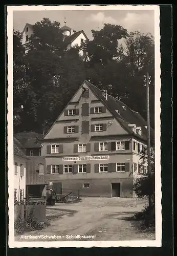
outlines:
[{"label": "bright white wall of the house at left picture edge", "polygon": [[[15,175],[15,162],[17,162],[17,175]],[[24,176],[20,176],[20,164],[24,165]],[[26,159],[14,155],[14,189],[17,189],[17,200],[19,198],[19,189],[24,189],[26,195]]]}]

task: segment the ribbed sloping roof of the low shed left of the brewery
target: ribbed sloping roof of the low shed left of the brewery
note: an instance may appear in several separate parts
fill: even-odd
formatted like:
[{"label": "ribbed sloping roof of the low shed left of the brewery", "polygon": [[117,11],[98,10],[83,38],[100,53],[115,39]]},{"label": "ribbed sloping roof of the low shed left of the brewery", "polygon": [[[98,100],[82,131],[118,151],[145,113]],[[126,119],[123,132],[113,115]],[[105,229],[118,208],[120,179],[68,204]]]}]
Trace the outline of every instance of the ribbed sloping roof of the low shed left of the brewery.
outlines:
[{"label": "ribbed sloping roof of the low shed left of the brewery", "polygon": [[46,172],[46,160],[45,157],[28,156],[26,163],[26,185],[39,185],[47,184],[46,176],[39,175],[39,164],[43,164],[44,173]]}]

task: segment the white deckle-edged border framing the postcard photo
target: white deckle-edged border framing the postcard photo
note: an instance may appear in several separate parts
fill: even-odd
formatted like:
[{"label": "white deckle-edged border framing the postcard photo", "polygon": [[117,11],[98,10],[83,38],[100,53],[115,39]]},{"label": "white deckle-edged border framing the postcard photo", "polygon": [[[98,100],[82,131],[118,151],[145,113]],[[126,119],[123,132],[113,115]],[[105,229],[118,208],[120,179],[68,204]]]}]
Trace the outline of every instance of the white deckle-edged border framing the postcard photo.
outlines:
[{"label": "white deckle-edged border framing the postcard photo", "polygon": [[[40,10],[154,10],[155,38],[155,157],[156,157],[156,240],[154,241],[64,241],[64,242],[17,242],[14,241],[14,207],[13,207],[13,11]],[[9,207],[9,247],[161,247],[162,239],[162,206],[161,206],[161,55],[160,55],[160,7],[158,5],[108,5],[108,6],[7,6],[7,37],[8,37],[8,207]]]}]

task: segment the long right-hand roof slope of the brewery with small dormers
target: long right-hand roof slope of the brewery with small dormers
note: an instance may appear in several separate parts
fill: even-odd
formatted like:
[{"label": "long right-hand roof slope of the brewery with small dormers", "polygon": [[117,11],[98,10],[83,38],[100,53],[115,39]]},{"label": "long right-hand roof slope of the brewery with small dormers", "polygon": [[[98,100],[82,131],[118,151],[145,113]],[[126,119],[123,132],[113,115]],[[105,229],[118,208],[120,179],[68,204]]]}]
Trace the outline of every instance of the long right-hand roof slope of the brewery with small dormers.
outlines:
[{"label": "long right-hand roof slope of the brewery with small dormers", "polygon": [[[116,117],[118,122],[124,127],[124,129],[128,133],[134,135],[137,138],[147,140],[147,129],[145,128],[145,126],[147,125],[147,122],[140,115],[140,113],[131,110],[130,108],[128,108],[128,106],[126,104],[124,104],[120,100],[118,100],[110,95],[107,95],[107,100],[106,100],[102,95],[103,91],[101,91],[96,86],[94,86],[94,84],[92,84],[86,80],[85,80],[85,83],[90,87],[90,89],[93,91],[93,93],[96,94],[98,98],[100,98],[100,100],[104,103],[104,105],[107,107],[107,109],[113,114],[113,116]],[[123,109],[123,106],[126,107],[125,110]],[[119,114],[116,112],[116,110],[119,110]],[[139,134],[135,134],[130,129],[128,124],[132,124],[132,123],[136,123],[137,126],[141,126],[142,136],[140,136]],[[153,140],[154,139],[153,129],[150,129],[150,133],[151,133],[151,139]]]}]

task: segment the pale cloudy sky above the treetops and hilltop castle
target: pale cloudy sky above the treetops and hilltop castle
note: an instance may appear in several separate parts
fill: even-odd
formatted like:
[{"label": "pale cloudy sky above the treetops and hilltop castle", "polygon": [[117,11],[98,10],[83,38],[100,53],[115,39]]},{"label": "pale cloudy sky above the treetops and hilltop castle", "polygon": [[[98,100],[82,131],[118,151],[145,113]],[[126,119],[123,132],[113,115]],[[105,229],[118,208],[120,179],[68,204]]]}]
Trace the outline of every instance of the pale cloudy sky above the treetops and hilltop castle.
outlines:
[{"label": "pale cloudy sky above the treetops and hilltop castle", "polygon": [[92,39],[91,30],[102,29],[104,23],[120,25],[128,32],[139,30],[154,35],[153,10],[13,11],[13,28],[22,32],[26,23],[34,25],[44,17],[56,20],[61,26],[64,26],[65,17],[67,26],[76,31],[84,30],[89,39]]}]

